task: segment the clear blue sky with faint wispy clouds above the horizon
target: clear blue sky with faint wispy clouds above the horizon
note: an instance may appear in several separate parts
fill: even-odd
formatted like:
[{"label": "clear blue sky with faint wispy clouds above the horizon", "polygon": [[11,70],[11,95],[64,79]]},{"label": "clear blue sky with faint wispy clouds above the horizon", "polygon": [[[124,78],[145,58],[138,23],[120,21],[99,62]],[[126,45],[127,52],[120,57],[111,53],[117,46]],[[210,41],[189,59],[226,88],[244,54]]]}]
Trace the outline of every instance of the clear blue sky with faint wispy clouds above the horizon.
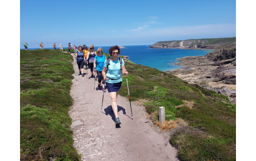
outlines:
[{"label": "clear blue sky with faint wispy clouds above the horizon", "polygon": [[235,1],[20,1],[20,46],[236,37]]}]

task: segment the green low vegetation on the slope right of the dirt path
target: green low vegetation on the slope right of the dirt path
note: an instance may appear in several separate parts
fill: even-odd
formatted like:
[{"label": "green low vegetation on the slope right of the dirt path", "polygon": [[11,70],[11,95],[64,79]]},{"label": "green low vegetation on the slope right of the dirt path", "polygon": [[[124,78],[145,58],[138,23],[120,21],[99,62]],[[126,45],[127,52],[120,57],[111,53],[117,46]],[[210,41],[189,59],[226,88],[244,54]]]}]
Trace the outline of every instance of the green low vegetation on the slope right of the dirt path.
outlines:
[{"label": "green low vegetation on the slope right of the dirt path", "polygon": [[[228,97],[188,84],[176,76],[157,69],[125,61],[129,71],[131,100],[147,100],[144,105],[151,114],[165,107],[165,120],[182,118],[189,126],[173,129],[170,142],[177,147],[181,160],[235,159],[235,105]],[[138,70],[140,69],[140,70]],[[119,92],[127,96],[126,78]],[[184,101],[193,102],[193,109],[176,108]],[[158,119],[158,114],[153,117]]]}]

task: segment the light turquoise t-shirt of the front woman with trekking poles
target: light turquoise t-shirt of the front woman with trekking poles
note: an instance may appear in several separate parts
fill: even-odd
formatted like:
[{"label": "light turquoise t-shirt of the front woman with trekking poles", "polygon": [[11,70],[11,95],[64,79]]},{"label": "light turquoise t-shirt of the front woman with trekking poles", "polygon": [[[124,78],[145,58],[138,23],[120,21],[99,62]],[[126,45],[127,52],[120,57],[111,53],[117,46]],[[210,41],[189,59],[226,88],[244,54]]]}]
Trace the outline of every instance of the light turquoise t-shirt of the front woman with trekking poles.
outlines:
[{"label": "light turquoise t-shirt of the front woman with trekking poles", "polygon": [[[125,62],[122,60],[122,66],[125,65]],[[109,69],[107,69],[106,77],[107,81],[110,84],[118,83],[122,81],[122,74],[121,74],[121,66],[119,62],[119,58],[116,61],[112,61],[110,59],[109,62]],[[107,67],[107,59],[104,62],[104,66]],[[110,80],[110,79],[117,79],[117,80]]]}]

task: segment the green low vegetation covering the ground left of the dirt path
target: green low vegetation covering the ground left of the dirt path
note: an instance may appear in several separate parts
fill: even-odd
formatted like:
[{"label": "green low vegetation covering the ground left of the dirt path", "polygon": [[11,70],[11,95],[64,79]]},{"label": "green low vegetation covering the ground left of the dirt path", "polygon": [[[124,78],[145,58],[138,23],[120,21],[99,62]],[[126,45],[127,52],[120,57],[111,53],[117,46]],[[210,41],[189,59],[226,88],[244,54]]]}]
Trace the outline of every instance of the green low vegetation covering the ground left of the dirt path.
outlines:
[{"label": "green low vegetation covering the ground left of the dirt path", "polygon": [[81,160],[69,129],[72,56],[50,49],[20,52],[21,160]]}]

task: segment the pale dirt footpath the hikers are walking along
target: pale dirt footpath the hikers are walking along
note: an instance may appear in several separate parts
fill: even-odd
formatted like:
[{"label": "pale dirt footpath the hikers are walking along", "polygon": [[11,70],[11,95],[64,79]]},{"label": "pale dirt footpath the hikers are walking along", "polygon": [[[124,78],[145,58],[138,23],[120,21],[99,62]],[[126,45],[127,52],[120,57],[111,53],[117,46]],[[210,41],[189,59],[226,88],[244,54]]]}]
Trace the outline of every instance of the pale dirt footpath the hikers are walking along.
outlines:
[{"label": "pale dirt footpath the hikers are walking along", "polygon": [[93,89],[94,78],[90,76],[87,79],[86,75],[74,74],[71,87],[74,100],[69,112],[71,130],[74,147],[82,154],[82,160],[178,160],[176,149],[169,143],[169,136],[156,132],[146,119],[144,107],[131,102],[134,117],[131,120],[126,97],[119,96],[117,100],[121,124],[116,128],[109,93],[106,91],[104,95],[101,110],[103,92],[96,90],[97,81]]}]

